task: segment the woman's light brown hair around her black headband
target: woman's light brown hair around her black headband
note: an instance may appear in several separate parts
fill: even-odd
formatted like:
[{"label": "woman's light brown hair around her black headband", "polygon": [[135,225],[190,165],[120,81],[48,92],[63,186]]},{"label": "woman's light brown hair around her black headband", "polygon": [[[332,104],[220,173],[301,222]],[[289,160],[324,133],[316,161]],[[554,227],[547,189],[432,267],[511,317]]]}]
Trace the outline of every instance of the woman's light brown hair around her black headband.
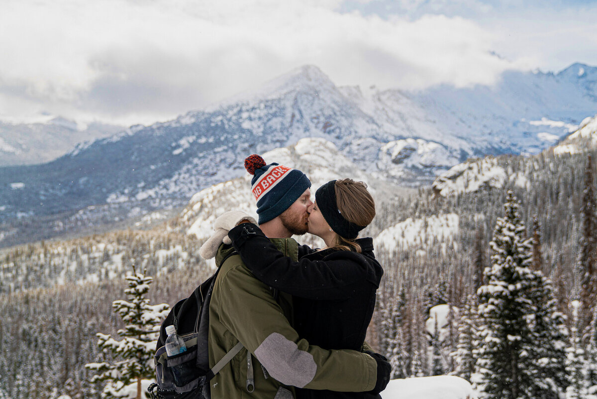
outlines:
[{"label": "woman's light brown hair around her black headband", "polygon": [[[368,226],[375,217],[375,201],[367,191],[365,182],[355,182],[352,179],[336,180],[334,184],[336,206],[344,217],[359,226]],[[361,245],[355,240],[340,237],[336,234],[334,246],[336,250],[355,251],[361,253]]]}]

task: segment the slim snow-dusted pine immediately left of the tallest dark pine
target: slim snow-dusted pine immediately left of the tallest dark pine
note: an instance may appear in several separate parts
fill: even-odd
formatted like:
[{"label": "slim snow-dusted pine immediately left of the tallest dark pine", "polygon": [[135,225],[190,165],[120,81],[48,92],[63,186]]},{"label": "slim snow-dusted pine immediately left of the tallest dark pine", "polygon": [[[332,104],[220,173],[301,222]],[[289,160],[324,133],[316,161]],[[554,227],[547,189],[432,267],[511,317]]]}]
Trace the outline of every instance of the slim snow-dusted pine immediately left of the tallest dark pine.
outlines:
[{"label": "slim snow-dusted pine immediately left of the tallest dark pine", "polygon": [[475,333],[476,333],[476,297],[469,295],[464,303],[464,309],[458,323],[458,343],[454,358],[456,370],[454,374],[471,381],[475,372]]}]

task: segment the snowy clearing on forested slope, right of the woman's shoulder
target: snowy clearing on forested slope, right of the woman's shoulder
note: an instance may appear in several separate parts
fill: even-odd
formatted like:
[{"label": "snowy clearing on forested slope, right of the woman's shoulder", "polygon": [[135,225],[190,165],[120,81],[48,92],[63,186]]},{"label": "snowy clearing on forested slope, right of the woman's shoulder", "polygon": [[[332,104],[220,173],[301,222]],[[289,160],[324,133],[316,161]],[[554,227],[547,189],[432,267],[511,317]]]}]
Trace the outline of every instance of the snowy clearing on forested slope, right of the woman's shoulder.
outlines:
[{"label": "snowy clearing on forested slope, right of the woman's shoulder", "polygon": [[459,221],[456,213],[432,215],[421,219],[409,217],[404,222],[384,229],[375,238],[375,246],[383,246],[391,253],[404,247],[432,243],[434,238],[445,244],[453,241],[453,237],[458,234]]}]

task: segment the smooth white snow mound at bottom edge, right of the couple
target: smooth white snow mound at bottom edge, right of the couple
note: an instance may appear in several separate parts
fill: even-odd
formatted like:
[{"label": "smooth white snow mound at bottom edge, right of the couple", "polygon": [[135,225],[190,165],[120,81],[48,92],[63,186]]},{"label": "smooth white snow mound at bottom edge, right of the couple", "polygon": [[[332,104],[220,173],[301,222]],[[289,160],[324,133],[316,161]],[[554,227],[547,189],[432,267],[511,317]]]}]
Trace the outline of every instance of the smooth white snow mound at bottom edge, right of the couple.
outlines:
[{"label": "smooth white snow mound at bottom edge, right of the couple", "polygon": [[475,399],[470,383],[456,376],[414,377],[390,380],[383,399]]}]

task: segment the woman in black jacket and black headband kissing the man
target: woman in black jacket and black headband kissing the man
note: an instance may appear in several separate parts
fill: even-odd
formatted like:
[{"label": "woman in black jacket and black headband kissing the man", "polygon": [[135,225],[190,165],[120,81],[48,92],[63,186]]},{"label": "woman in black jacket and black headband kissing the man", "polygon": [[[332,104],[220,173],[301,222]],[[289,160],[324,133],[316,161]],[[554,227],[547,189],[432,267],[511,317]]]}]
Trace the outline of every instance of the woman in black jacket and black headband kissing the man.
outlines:
[{"label": "woman in black jacket and black headband kissing the man", "polygon": [[[293,262],[257,226],[242,223],[228,237],[256,278],[293,295],[294,328],[311,345],[360,351],[376,302],[383,270],[371,238],[357,238],[375,216],[363,182],[332,180],[316,191],[309,208],[309,232],[326,247],[299,246]],[[297,389],[298,398],[365,398],[367,392]]]}]

